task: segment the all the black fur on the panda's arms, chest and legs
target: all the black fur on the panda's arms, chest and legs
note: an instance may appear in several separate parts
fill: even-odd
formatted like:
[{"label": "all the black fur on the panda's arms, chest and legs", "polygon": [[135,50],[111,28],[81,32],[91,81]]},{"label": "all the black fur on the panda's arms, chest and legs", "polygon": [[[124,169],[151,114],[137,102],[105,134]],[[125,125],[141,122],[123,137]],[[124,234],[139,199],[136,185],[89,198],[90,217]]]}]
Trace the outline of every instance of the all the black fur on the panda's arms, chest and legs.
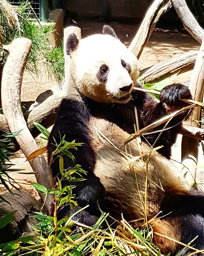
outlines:
[{"label": "all the black fur on the panda's arms, chest and legs", "polygon": [[[68,157],[64,157],[64,167],[69,168],[73,167],[75,164],[80,164],[87,172],[87,175],[84,175],[86,180],[77,182],[73,189],[73,193],[75,193],[78,198],[78,207],[71,209],[67,206],[61,209],[58,212],[58,217],[62,218],[65,215],[71,215],[78,209],[89,204],[86,211],[75,215],[74,220],[79,220],[87,225],[93,225],[100,216],[97,204],[99,203],[100,206],[102,206],[102,210],[105,210],[106,207],[106,202],[104,202],[104,187],[98,177],[93,173],[95,168],[95,154],[94,149],[91,148],[89,138],[90,116],[109,120],[131,134],[134,132],[133,124],[135,123],[134,106],[137,107],[139,112],[140,128],[143,128],[168,114],[165,104],[168,104],[169,107],[185,106],[185,103],[180,100],[182,97],[191,98],[191,94],[186,86],[178,84],[167,86],[162,90],[160,103],[155,102],[149,94],[138,91],[133,91],[132,100],[126,104],[100,104],[85,97],[82,103],[75,100],[62,100],[55,125],[49,137],[49,162],[51,161],[51,154],[55,150],[53,138],[59,142],[60,135],[62,137],[65,134],[66,141],[71,142],[76,140],[76,142],[84,144],[78,147],[78,150],[71,150],[72,154],[75,156],[74,162]],[[162,150],[160,150],[164,156],[170,157],[171,145],[175,142],[177,132],[181,125],[180,122],[185,117],[186,115],[181,115],[173,118],[168,127],[174,127],[163,131],[162,135],[157,140],[156,145],[164,145]],[[162,127],[157,129],[161,128]],[[157,133],[151,134],[151,136],[146,136],[145,139],[153,144],[157,136]],[[59,177],[58,158],[51,163],[51,170],[55,177]],[[199,236],[193,242],[193,245],[195,245],[197,249],[204,248],[203,193],[192,190],[190,193],[186,193],[186,195],[177,195],[176,192],[166,191],[160,210],[162,211],[160,217],[164,220],[171,222],[171,220],[175,219],[180,223],[181,228],[178,232],[181,232],[181,242],[188,243],[195,238],[195,236]],[[175,250],[179,251],[182,248],[182,246],[178,245]],[[182,256],[186,256],[189,253],[191,253],[191,250],[186,249],[182,252]]]}]

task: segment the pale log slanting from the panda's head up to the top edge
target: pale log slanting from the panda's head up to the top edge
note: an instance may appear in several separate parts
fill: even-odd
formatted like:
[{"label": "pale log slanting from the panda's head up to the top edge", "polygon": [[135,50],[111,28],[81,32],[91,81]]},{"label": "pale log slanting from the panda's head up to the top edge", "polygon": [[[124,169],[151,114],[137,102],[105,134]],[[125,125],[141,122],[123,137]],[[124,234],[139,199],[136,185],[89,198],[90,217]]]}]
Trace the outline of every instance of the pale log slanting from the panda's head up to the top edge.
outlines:
[{"label": "pale log slanting from the panda's head up to the top edge", "polygon": [[149,9],[146,11],[142,23],[129,46],[129,50],[135,54],[137,59],[140,58],[142,50],[148,42],[157,21],[170,8],[170,0],[154,0]]}]

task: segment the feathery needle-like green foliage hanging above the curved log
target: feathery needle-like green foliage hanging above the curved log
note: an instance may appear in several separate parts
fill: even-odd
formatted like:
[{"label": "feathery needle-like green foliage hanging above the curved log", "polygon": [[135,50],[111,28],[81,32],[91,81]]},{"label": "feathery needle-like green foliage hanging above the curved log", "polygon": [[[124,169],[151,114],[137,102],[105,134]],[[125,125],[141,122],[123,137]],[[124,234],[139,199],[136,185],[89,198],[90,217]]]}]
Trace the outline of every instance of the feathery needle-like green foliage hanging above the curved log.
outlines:
[{"label": "feathery needle-like green foliage hanging above the curved log", "polygon": [[[53,23],[38,22],[31,16],[31,5],[22,1],[17,10],[5,0],[0,2],[0,28],[2,29],[2,44],[9,44],[13,39],[26,37],[32,41],[32,50],[27,61],[27,70],[38,75],[42,71],[42,64],[46,63],[49,75],[53,75],[60,83],[64,78],[63,46],[52,48],[48,35],[54,31]],[[9,6],[10,5],[10,6]],[[12,23],[7,15],[6,7],[12,13]],[[0,48],[0,65],[6,61],[7,54]]]}]

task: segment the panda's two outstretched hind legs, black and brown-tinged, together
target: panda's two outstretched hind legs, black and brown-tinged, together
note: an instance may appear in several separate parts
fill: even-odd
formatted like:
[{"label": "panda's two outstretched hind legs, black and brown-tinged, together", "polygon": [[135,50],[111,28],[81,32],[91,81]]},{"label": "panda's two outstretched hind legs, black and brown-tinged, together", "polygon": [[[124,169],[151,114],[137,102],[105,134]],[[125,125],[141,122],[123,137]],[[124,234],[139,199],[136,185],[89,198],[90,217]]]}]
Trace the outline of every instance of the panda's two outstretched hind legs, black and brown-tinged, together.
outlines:
[{"label": "panda's two outstretched hind legs, black and brown-tinged, together", "polygon": [[[187,256],[204,249],[204,194],[190,190],[183,195],[168,192],[161,204],[162,215],[153,222],[154,242],[162,253]],[[178,242],[176,242],[178,241]],[[188,245],[186,247],[184,245]],[[196,254],[199,255],[199,254]],[[202,254],[203,255],[203,254]]]}]

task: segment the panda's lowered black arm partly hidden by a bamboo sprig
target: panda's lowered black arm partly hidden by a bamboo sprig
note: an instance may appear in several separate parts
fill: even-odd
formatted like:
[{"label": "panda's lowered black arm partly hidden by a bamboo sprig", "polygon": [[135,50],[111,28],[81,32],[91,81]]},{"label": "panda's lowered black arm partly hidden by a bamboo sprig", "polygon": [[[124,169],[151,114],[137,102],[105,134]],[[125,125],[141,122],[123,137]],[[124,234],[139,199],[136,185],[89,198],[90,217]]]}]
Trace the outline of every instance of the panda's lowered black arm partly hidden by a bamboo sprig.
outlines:
[{"label": "panda's lowered black arm partly hidden by a bamboo sprig", "polygon": [[[77,197],[77,202],[80,207],[86,206],[89,204],[87,211],[93,213],[93,209],[96,208],[98,199],[103,195],[103,186],[100,183],[98,177],[93,173],[95,167],[95,155],[91,148],[91,143],[89,139],[89,110],[86,108],[86,105],[82,102],[75,100],[63,99],[60,105],[55,124],[51,131],[48,141],[48,161],[51,164],[51,170],[54,177],[60,178],[59,170],[59,158],[54,157],[51,159],[52,152],[56,149],[54,139],[57,143],[60,142],[61,138],[65,135],[65,140],[72,142],[75,140],[76,143],[83,143],[78,147],[78,150],[71,149],[70,152],[73,154],[75,160],[71,160],[68,156],[63,156],[64,168],[74,167],[76,164],[81,165],[82,169],[86,171],[86,175],[83,176],[84,181],[76,182],[73,193]],[[66,182],[62,184],[69,185]],[[69,207],[64,209],[64,213],[60,213],[60,217],[63,217],[66,214],[71,214]],[[84,220],[80,219],[86,224],[93,224],[93,216],[90,218],[86,215],[84,211],[83,216]],[[79,217],[79,216],[77,216]],[[86,221],[85,221],[86,220]]]}]

